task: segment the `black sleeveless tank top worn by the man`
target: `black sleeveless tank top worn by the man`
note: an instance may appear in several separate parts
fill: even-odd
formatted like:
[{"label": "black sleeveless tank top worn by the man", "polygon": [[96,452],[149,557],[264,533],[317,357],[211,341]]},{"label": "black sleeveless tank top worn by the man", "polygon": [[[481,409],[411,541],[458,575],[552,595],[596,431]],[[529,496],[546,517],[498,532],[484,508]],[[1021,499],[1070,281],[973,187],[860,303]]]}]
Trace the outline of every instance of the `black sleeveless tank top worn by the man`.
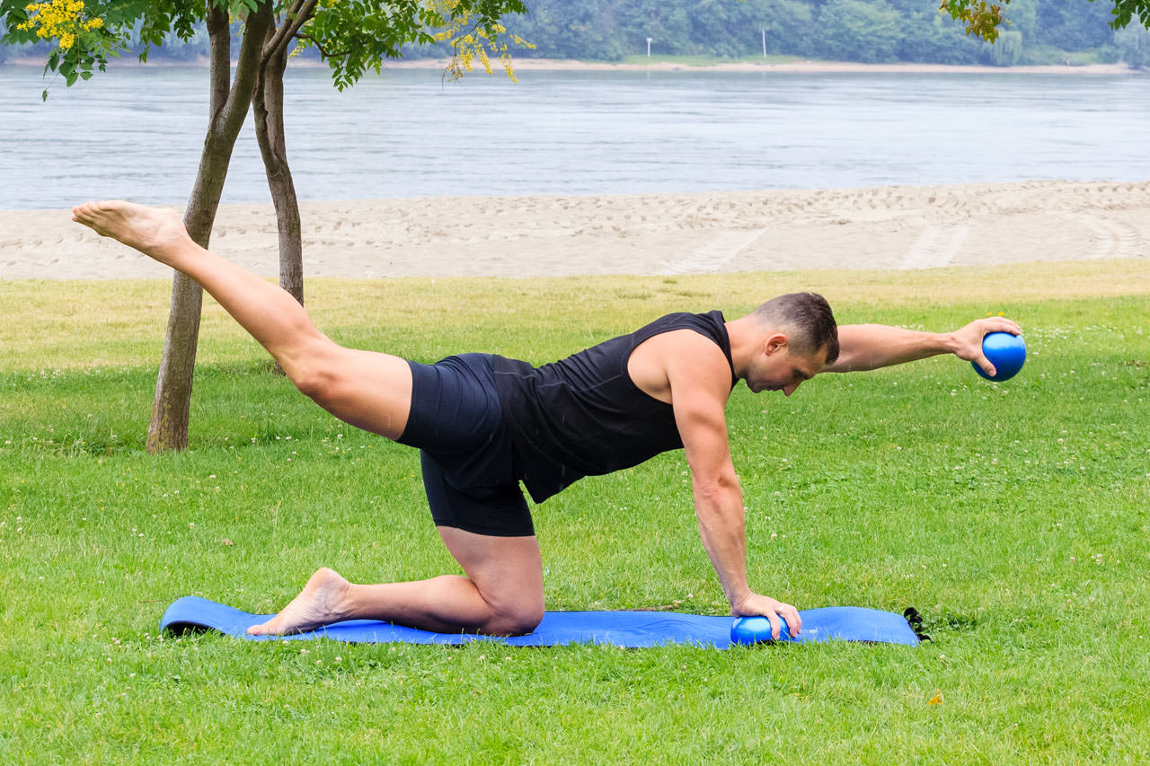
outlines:
[{"label": "black sleeveless tank top worn by the man", "polygon": [[583,476],[630,468],[683,446],[672,406],[644,393],[627,373],[637,345],[690,329],[722,348],[731,366],[722,312],[668,314],[630,335],[535,368],[493,357],[496,385],[519,462],[520,478],[542,503]]}]

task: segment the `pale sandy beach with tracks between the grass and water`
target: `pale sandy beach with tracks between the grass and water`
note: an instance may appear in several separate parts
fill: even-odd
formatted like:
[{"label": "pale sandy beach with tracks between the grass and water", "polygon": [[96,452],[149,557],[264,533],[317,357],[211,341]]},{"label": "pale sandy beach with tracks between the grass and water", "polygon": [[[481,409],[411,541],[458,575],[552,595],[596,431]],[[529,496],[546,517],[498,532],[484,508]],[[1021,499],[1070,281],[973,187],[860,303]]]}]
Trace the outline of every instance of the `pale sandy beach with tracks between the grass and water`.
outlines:
[{"label": "pale sandy beach with tracks between the grass and water", "polygon": [[[1030,182],[304,202],[312,277],[708,274],[1145,259],[1150,182]],[[270,204],[227,205],[212,248],[277,273]],[[75,224],[0,210],[0,278],[169,271]]]}]

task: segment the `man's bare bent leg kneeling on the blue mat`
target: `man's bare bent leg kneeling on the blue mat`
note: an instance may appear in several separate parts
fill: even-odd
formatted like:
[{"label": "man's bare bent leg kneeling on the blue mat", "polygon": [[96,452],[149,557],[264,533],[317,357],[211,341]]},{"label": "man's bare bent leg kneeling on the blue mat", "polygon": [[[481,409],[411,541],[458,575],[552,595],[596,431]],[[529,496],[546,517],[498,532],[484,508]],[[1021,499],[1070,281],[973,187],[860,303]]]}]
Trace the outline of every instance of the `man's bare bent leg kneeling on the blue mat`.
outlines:
[{"label": "man's bare bent leg kneeling on the blue mat", "polygon": [[466,576],[360,585],[320,569],[252,635],[285,635],[342,620],[383,620],[438,633],[513,636],[543,619],[543,565],[535,537],[489,537],[439,527]]}]

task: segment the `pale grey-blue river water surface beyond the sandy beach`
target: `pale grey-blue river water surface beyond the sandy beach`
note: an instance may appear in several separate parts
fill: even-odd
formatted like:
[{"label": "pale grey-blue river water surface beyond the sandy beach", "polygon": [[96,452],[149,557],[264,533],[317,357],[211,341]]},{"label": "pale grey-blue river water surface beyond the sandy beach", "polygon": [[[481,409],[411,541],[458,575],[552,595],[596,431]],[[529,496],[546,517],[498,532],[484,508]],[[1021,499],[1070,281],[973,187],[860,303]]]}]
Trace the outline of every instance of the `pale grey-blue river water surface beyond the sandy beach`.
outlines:
[{"label": "pale grey-blue river water surface beyond the sandy beach", "polygon": [[[71,89],[0,67],[0,209],[183,204],[207,70],[122,66]],[[1150,77],[391,70],[286,83],[302,199],[1150,178]],[[267,201],[251,124],[225,202]]]}]

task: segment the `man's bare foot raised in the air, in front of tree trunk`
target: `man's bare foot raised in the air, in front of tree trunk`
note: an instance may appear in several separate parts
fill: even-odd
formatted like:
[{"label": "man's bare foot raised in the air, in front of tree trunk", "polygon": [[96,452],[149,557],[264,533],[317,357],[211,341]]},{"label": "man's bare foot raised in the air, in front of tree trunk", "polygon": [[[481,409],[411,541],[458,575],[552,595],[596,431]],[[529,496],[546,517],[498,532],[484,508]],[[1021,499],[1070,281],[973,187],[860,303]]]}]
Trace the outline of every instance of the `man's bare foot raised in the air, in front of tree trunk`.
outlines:
[{"label": "man's bare foot raised in the air, in front of tree trunk", "polygon": [[193,244],[175,210],[133,202],[84,202],[72,208],[72,221],[168,266],[184,247]]}]

